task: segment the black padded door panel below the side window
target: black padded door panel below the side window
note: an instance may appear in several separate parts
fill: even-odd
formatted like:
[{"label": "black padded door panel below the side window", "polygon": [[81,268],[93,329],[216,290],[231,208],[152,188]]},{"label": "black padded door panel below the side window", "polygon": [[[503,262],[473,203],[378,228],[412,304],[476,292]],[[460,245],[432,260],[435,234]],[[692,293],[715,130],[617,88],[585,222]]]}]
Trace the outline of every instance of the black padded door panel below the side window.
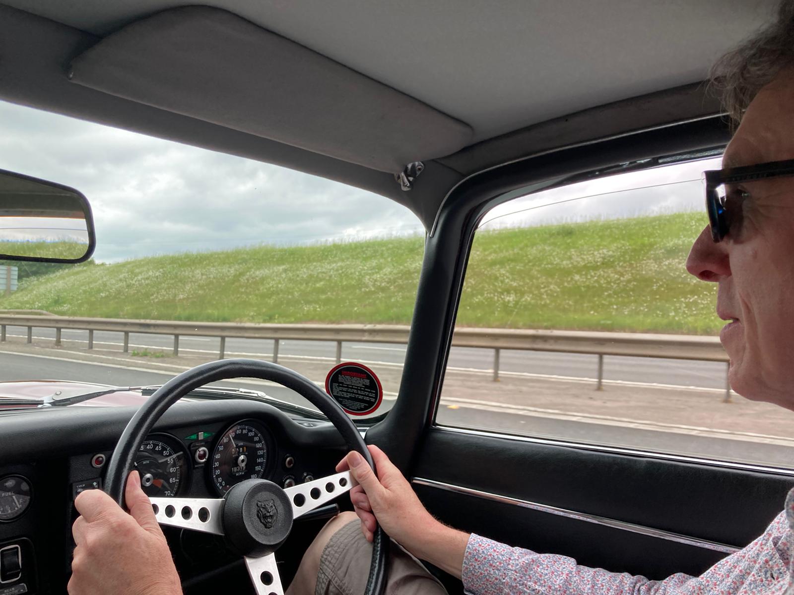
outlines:
[{"label": "black padded door panel below the side window", "polygon": [[[744,547],[781,512],[794,477],[433,428],[414,469],[430,480]],[[580,564],[665,578],[727,553],[539,512],[414,481],[445,523]]]}]

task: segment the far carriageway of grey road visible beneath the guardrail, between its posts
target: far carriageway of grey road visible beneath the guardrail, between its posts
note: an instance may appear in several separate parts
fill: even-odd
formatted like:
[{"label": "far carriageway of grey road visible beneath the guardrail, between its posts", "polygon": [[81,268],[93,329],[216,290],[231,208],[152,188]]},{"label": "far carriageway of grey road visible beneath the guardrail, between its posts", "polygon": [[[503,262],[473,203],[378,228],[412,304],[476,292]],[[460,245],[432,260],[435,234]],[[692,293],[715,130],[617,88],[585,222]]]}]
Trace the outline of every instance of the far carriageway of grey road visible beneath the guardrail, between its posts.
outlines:
[{"label": "far carriageway of grey road visible beneath the guardrail, between its posts", "polygon": [[[24,327],[9,327],[10,336],[27,336]],[[55,329],[35,328],[34,340],[55,340]],[[87,331],[64,329],[63,340],[77,340],[87,344]],[[94,332],[94,345],[103,349],[121,351],[122,335],[119,332]],[[170,351],[173,337],[170,335],[143,335],[131,333],[130,350],[156,349]],[[210,337],[179,337],[179,352],[217,354],[219,340]],[[272,357],[272,340],[227,339],[226,356],[249,355],[269,359]],[[307,358],[336,358],[336,344],[325,341],[280,341],[279,355],[298,355]],[[342,359],[361,362],[379,362],[402,365],[405,346],[375,343],[345,343]],[[494,352],[491,349],[453,347],[449,366],[468,370],[491,370]],[[549,351],[507,351],[500,356],[500,372],[518,374],[542,374],[570,378],[597,378],[598,358],[595,355],[553,353]],[[724,363],[689,362],[678,359],[652,359],[607,356],[604,358],[603,378],[622,382],[643,382],[673,386],[697,386],[714,390],[725,388]]]}]

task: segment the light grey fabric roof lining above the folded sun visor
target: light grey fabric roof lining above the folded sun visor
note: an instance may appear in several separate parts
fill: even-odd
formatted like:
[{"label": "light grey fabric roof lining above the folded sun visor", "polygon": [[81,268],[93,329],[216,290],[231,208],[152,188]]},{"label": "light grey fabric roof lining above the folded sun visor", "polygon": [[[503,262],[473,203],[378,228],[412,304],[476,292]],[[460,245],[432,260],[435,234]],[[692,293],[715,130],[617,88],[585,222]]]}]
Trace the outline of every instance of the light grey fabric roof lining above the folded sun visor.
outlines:
[{"label": "light grey fabric roof lining above the folded sun visor", "polygon": [[[2,0],[100,36],[179,0]],[[775,0],[212,0],[471,125],[475,141],[705,77]]]}]

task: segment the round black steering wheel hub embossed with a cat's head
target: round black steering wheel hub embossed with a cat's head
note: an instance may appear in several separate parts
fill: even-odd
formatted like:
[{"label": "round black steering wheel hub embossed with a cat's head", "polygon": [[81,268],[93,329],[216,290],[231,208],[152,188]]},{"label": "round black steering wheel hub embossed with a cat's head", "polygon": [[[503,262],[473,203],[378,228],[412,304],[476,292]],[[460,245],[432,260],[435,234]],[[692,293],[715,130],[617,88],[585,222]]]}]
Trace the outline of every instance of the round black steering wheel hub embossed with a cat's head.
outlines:
[{"label": "round black steering wheel hub embossed with a cat's head", "polygon": [[246,479],[225,495],[223,530],[241,556],[272,554],[292,529],[292,503],[280,486],[266,479]]}]

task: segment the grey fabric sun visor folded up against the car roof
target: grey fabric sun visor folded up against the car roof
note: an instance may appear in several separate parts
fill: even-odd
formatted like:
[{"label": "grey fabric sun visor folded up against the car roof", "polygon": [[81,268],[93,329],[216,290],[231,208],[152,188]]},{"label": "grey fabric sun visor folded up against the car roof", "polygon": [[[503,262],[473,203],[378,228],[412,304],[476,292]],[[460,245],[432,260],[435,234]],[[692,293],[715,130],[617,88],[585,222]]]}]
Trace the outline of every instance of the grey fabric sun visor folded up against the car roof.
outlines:
[{"label": "grey fabric sun visor folded up against the car roof", "polygon": [[225,10],[165,10],[111,33],[71,80],[393,174],[459,151],[472,129]]}]

